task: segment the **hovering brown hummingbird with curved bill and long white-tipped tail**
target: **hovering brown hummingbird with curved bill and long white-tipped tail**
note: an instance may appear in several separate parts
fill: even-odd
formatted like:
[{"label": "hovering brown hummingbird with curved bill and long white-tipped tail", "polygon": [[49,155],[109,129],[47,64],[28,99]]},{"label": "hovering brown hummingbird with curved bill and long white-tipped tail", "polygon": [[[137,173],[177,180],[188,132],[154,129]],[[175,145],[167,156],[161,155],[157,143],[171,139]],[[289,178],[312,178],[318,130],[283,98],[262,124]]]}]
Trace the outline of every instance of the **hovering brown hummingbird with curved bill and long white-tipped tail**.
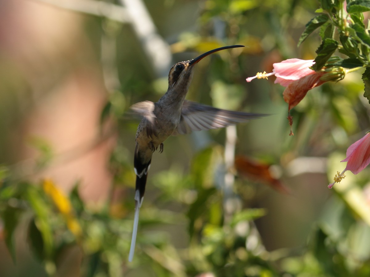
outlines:
[{"label": "hovering brown hummingbird with curved bill and long white-tipped tail", "polygon": [[129,261],[132,261],[134,257],[139,210],[144,198],[145,184],[154,151],[158,150],[159,147],[159,153],[162,153],[163,142],[169,136],[188,134],[191,131],[223,128],[265,115],[217,109],[185,100],[195,65],[214,52],[236,47],[244,47],[244,45],[216,48],[194,59],[174,64],[169,70],[167,92],[158,102],[143,101],[130,107],[142,117],[142,120],[135,138],[135,215]]}]

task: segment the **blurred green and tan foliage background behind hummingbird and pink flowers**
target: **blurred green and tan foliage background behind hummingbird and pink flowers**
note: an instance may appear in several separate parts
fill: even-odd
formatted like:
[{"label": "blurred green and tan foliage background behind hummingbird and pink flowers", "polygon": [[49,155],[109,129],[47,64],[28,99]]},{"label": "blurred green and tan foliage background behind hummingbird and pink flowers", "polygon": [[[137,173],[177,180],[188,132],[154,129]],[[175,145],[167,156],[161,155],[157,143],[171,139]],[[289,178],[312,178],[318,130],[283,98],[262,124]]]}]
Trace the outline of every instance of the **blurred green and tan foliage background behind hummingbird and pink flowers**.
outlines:
[{"label": "blurred green and tan foliage background behind hummingbird and pink flowers", "polygon": [[[370,129],[360,73],[295,107],[271,72],[317,1],[0,0],[0,276],[369,276],[369,170],[327,189]],[[136,102],[176,62],[187,99],[270,114],[155,153],[134,261]]]}]

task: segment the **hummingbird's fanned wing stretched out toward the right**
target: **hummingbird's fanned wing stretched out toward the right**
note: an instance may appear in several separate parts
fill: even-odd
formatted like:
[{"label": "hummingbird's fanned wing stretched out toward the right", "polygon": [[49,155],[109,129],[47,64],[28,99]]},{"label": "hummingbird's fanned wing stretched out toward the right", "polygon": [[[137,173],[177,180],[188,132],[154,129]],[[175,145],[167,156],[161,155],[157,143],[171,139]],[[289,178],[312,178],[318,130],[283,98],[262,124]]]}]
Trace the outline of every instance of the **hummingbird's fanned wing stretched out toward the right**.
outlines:
[{"label": "hummingbird's fanned wing stretched out toward the right", "polygon": [[180,123],[173,135],[188,134],[191,131],[223,128],[266,115],[222,110],[185,100],[182,106]]}]

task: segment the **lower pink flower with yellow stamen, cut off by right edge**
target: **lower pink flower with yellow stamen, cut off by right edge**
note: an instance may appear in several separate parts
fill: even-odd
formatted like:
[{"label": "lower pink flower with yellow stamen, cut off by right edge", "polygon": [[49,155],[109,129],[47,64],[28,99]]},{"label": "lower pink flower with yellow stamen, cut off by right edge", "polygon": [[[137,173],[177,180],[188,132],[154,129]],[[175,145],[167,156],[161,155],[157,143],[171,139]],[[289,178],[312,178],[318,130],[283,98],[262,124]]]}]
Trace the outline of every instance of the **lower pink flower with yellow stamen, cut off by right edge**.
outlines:
[{"label": "lower pink flower with yellow stamen, cut off by right edge", "polygon": [[351,171],[353,174],[357,174],[362,171],[367,165],[370,163],[370,132],[366,133],[366,135],[357,140],[347,149],[346,158],[342,161],[347,162],[346,168],[337,174],[334,177],[334,182],[330,183],[327,187],[332,188],[335,183],[339,183],[342,181],[346,175],[344,172],[347,170]]}]

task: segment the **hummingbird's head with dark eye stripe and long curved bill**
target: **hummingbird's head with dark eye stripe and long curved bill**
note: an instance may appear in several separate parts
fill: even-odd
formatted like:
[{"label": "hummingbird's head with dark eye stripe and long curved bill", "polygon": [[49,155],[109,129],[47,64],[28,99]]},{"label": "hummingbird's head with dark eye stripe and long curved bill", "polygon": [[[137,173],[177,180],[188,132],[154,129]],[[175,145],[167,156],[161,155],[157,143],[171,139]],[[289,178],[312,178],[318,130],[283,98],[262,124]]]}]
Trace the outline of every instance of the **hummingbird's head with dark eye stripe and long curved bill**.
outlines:
[{"label": "hummingbird's head with dark eye stripe and long curved bill", "polygon": [[185,91],[188,90],[192,71],[194,69],[194,65],[199,62],[204,57],[212,54],[214,52],[229,49],[229,48],[236,48],[236,47],[244,47],[244,45],[231,45],[231,46],[224,46],[220,48],[213,49],[211,51],[205,52],[204,54],[196,57],[195,59],[191,59],[189,61],[178,62],[172,65],[171,69],[169,70],[168,74],[168,89],[178,88]]}]

